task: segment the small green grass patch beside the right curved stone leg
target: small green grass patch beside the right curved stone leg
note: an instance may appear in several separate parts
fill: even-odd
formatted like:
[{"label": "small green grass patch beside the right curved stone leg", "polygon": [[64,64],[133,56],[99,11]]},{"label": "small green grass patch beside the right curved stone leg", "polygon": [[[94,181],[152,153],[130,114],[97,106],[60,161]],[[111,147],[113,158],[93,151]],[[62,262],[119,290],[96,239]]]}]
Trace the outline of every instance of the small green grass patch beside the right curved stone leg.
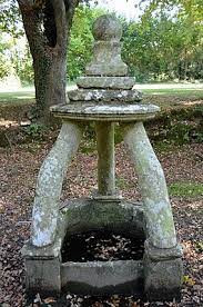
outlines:
[{"label": "small green grass patch beside the right curved stone leg", "polygon": [[174,182],[169,187],[171,196],[177,197],[201,197],[203,196],[203,184]]}]

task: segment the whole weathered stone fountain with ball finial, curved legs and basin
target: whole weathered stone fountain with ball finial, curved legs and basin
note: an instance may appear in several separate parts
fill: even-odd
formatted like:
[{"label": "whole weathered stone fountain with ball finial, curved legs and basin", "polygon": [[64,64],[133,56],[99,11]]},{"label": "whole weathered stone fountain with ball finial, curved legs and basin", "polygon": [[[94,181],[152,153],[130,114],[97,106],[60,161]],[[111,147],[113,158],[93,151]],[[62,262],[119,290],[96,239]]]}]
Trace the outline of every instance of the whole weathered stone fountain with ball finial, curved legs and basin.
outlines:
[{"label": "whole weathered stone fountain with ball finial, curved legs and basin", "polygon": [[[141,102],[134,79],[121,59],[120,22],[111,16],[93,24],[93,59],[69,102],[51,108],[62,128],[43,161],[35,188],[30,240],[22,249],[27,290],[75,294],[145,294],[150,300],[180,297],[182,249],[162,167],[143,121],[159,107]],[[89,198],[60,205],[67,167],[75,155],[85,123],[94,122],[98,143],[98,190]],[[142,204],[122,198],[115,187],[114,126],[122,125],[139,177]],[[128,170],[126,170],[128,171]],[[144,238],[140,260],[63,263],[64,237],[89,230],[112,230]]]}]

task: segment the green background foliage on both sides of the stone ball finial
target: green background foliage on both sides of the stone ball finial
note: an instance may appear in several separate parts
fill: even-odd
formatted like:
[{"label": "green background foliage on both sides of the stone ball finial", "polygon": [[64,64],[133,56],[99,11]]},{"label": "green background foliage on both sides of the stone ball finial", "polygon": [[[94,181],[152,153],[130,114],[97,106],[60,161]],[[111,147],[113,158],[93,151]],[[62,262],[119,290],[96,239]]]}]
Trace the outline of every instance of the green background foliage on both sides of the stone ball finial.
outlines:
[{"label": "green background foliage on both sides of the stone ball finial", "polygon": [[[203,78],[202,27],[181,12],[179,18],[163,10],[140,21],[121,19],[122,56],[138,81]],[[71,80],[84,72],[91,58],[91,26],[100,13],[90,8],[77,11],[68,55]]]}]

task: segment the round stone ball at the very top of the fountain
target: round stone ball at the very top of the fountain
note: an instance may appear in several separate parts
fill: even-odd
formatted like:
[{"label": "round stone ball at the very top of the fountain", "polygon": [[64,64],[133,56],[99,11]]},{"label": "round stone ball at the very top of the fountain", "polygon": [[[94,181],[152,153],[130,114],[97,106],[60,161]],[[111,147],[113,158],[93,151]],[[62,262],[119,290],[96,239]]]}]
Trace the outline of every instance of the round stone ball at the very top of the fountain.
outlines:
[{"label": "round stone ball at the very top of the fountain", "polygon": [[103,14],[94,21],[92,33],[95,40],[120,41],[122,37],[122,26],[115,17]]}]

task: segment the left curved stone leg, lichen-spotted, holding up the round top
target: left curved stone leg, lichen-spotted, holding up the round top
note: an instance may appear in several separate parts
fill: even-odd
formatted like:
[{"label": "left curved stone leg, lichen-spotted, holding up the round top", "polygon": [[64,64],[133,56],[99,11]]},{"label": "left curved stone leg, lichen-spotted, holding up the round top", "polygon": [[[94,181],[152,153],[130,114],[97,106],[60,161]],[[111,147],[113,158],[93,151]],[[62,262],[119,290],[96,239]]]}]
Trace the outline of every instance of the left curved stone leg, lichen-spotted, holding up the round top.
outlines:
[{"label": "left curved stone leg, lichen-spotted, holding up the round top", "polygon": [[41,166],[32,211],[31,242],[37,247],[50,245],[54,240],[63,177],[80,140],[79,126],[64,122],[53,148]]}]

